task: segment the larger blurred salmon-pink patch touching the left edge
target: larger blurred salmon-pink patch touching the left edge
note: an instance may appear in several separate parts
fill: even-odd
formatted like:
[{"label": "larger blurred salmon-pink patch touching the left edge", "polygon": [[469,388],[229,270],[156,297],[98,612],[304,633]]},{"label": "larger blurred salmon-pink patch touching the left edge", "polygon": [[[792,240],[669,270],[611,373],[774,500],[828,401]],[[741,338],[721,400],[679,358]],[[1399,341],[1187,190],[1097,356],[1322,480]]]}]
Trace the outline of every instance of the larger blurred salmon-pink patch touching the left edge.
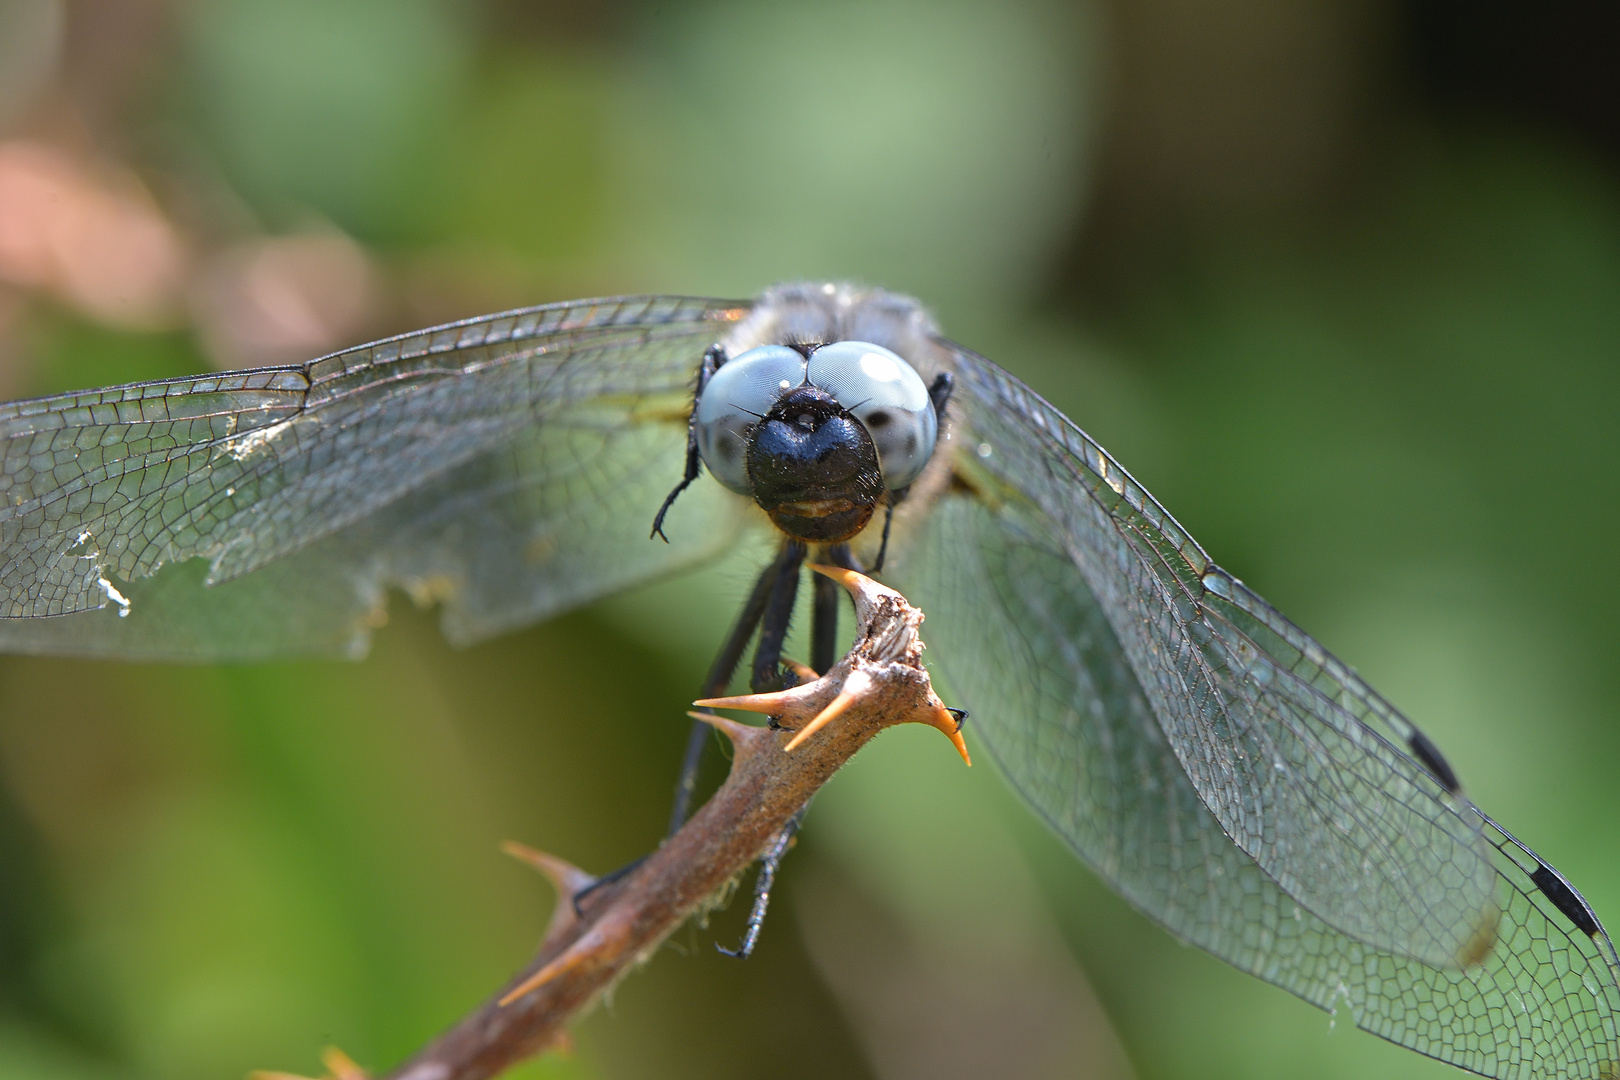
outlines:
[{"label": "larger blurred salmon-pink patch touching the left edge", "polygon": [[185,249],[133,176],[37,142],[0,142],[0,280],[149,329],[178,311]]}]

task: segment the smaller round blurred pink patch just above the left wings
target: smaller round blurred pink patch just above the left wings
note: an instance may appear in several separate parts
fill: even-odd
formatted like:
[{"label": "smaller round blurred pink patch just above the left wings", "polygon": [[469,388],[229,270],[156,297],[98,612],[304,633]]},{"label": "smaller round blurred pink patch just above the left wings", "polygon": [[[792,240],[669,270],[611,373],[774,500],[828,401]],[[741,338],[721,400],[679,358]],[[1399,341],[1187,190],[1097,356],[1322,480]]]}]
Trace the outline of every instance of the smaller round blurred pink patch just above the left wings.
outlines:
[{"label": "smaller round blurred pink patch just above the left wings", "polygon": [[366,253],[348,236],[279,236],[211,262],[198,282],[198,316],[222,366],[296,363],[361,335],[377,293]]}]

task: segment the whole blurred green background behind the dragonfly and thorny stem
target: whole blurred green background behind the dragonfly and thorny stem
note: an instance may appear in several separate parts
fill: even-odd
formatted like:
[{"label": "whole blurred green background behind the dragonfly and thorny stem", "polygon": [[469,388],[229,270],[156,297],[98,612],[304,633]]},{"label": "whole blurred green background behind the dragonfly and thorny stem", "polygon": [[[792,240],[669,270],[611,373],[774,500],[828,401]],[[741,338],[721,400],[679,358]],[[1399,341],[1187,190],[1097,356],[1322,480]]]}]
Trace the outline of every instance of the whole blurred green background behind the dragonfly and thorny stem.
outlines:
[{"label": "whole blurred green background behind the dragonfly and thorny stem", "polygon": [[[1563,2],[0,0],[0,393],[910,291],[1620,918],[1617,53]],[[499,840],[656,842],[748,575],[468,651],[395,602],[361,664],[0,659],[0,1078],[400,1061],[544,925]],[[1181,947],[920,730],[735,963],[742,907],[520,1075],[1456,1075]]]}]

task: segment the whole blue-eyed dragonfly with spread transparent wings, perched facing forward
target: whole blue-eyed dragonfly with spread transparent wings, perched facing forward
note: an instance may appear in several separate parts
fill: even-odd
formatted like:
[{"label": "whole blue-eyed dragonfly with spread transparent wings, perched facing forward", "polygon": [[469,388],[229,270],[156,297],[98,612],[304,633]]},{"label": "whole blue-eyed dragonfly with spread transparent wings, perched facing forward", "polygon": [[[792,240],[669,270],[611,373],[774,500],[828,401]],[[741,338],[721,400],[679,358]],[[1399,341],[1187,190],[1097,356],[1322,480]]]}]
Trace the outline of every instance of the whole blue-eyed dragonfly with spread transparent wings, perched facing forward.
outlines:
[{"label": "whole blue-eyed dragonfly with spread transparent wings, perched facing forward", "polygon": [[465,644],[758,531],[708,687],[755,635],[755,685],[791,677],[807,559],[881,567],[1006,780],[1166,931],[1479,1075],[1620,1077],[1620,959],[1575,886],[914,300],[582,300],[0,405],[15,653],[360,656],[394,589]]}]

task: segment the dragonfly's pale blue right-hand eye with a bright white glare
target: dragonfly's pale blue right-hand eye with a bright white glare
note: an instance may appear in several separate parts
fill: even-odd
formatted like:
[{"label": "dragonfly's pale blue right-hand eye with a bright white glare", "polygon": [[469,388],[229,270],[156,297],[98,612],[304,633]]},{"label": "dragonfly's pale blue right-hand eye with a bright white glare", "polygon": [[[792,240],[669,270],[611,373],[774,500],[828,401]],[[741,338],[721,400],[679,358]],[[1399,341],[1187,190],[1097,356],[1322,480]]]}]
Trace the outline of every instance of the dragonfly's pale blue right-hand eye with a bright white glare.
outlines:
[{"label": "dragonfly's pale blue right-hand eye with a bright white glare", "polygon": [[808,376],[865,426],[889,491],[922,474],[938,419],[928,387],[910,364],[881,345],[834,342],[810,353]]}]

